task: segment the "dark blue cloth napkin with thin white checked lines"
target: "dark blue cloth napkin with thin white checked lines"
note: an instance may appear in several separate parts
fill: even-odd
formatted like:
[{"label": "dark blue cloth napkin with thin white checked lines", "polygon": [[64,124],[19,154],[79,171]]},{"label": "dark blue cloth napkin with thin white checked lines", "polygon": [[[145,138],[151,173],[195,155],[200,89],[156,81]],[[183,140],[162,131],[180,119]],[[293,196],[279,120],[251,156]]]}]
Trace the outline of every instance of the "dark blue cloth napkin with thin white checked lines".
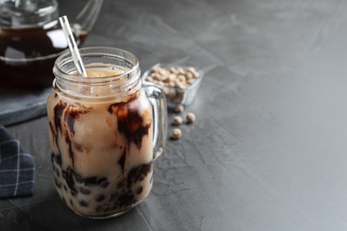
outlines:
[{"label": "dark blue cloth napkin with thin white checked lines", "polygon": [[34,194],[35,162],[0,124],[0,198]]}]

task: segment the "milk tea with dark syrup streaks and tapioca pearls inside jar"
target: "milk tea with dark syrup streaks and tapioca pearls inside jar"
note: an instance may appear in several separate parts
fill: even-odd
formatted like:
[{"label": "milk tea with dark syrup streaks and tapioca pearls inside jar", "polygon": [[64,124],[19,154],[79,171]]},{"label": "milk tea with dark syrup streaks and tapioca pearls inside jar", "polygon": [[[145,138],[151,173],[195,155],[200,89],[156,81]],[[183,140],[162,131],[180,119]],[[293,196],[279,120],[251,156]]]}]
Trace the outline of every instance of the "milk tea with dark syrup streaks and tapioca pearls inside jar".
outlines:
[{"label": "milk tea with dark syrup streaks and tapioca pearls inside jar", "polygon": [[[87,69],[90,78],[117,73]],[[47,100],[55,186],[73,211],[94,218],[130,210],[152,187],[152,107],[141,89],[112,91],[55,91]]]}]

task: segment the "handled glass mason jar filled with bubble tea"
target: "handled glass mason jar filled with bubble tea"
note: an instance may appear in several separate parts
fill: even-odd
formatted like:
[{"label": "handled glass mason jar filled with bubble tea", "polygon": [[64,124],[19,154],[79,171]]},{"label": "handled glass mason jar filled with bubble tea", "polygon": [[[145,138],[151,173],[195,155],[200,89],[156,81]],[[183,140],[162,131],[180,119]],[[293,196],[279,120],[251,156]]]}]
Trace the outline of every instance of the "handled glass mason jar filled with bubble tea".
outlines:
[{"label": "handled glass mason jar filled with bubble tea", "polygon": [[87,77],[76,75],[69,53],[53,69],[47,116],[54,183],[73,211],[109,218],[149,195],[152,162],[165,146],[165,96],[141,87],[133,54],[105,47],[80,52]]}]

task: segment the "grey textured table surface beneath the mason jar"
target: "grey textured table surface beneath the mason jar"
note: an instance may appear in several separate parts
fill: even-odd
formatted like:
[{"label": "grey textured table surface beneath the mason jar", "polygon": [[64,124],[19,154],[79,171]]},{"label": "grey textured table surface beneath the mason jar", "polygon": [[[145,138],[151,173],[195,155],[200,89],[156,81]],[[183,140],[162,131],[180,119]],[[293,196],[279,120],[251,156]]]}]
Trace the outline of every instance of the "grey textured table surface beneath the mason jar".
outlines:
[{"label": "grey textured table surface beneath the mason jar", "polygon": [[107,220],[61,202],[45,116],[7,126],[35,156],[36,192],[0,200],[0,229],[346,230],[346,11],[338,0],[106,0],[85,46],[133,52],[142,70],[203,68],[185,110],[197,121],[167,141],[150,195]]}]

